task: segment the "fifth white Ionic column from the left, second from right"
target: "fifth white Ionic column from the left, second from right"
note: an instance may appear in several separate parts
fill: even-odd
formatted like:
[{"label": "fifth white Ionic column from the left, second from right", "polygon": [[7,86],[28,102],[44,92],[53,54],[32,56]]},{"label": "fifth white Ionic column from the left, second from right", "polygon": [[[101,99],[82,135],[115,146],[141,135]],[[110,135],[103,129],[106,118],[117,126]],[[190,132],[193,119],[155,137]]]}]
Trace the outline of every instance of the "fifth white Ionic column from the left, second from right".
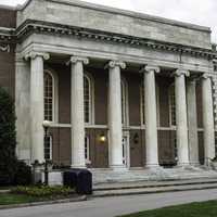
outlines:
[{"label": "fifth white Ionic column from the left, second from right", "polygon": [[175,73],[178,166],[189,165],[186,76],[189,76],[188,71]]}]

